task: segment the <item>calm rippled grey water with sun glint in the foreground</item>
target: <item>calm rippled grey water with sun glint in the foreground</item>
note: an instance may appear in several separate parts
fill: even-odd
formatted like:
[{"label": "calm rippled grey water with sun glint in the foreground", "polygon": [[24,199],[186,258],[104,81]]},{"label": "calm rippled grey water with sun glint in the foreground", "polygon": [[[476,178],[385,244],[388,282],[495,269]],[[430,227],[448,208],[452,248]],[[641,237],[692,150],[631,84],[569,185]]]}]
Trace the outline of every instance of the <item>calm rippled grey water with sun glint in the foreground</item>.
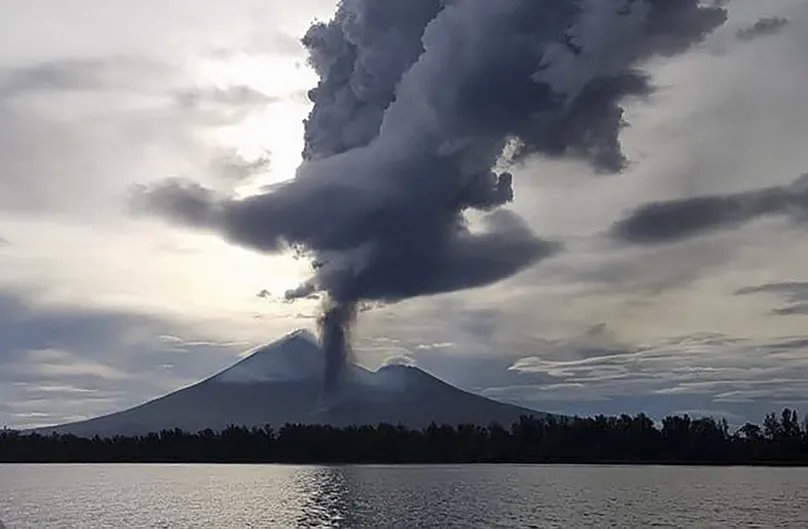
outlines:
[{"label": "calm rippled grey water with sun glint in the foreground", "polygon": [[808,469],[0,465],[17,528],[808,527]]}]

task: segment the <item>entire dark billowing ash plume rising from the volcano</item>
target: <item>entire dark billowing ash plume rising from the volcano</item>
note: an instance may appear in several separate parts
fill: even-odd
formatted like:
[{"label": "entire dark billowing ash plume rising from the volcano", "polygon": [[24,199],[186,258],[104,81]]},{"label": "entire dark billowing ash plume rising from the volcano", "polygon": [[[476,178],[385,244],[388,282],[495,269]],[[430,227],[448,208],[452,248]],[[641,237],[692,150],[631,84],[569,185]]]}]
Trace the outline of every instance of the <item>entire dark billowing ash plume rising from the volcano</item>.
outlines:
[{"label": "entire dark billowing ash plume rising from the volcano", "polygon": [[334,384],[360,301],[491,284],[558,251],[502,208],[512,176],[493,168],[544,155],[619,172],[620,103],[651,91],[643,63],[725,20],[698,0],[344,0],[303,38],[320,82],[294,179],[247,198],[167,181],[136,200],[311,256],[314,276],[286,296],[325,294]]}]

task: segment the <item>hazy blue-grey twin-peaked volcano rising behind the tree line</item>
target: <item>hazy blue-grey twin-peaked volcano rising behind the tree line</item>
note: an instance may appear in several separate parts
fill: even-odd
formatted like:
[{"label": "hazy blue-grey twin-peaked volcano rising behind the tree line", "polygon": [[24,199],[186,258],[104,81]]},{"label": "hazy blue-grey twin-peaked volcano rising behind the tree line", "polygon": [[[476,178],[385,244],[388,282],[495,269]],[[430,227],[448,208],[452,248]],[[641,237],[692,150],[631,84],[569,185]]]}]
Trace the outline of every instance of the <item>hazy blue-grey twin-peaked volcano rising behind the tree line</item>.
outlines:
[{"label": "hazy blue-grey twin-peaked volcano rising behind the tree line", "polygon": [[125,411],[39,431],[109,436],[229,425],[382,422],[422,428],[432,422],[509,425],[522,415],[544,415],[462,391],[403,365],[369,371],[350,364],[339,395],[325,405],[323,365],[324,355],[311,333],[296,331],[192,386]]}]

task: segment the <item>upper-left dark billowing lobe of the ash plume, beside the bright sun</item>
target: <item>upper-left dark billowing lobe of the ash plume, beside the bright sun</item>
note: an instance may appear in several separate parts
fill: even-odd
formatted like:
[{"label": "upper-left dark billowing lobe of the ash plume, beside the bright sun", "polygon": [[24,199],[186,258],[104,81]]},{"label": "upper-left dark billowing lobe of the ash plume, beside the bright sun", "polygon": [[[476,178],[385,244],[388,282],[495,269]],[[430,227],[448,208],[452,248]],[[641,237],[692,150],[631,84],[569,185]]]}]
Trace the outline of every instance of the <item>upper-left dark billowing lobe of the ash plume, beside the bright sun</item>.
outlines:
[{"label": "upper-left dark billowing lobe of the ash plume, beside the bright sun", "polygon": [[301,39],[320,83],[306,120],[304,157],[322,158],[369,144],[379,134],[396,86],[424,52],[440,0],[341,2],[334,18]]}]

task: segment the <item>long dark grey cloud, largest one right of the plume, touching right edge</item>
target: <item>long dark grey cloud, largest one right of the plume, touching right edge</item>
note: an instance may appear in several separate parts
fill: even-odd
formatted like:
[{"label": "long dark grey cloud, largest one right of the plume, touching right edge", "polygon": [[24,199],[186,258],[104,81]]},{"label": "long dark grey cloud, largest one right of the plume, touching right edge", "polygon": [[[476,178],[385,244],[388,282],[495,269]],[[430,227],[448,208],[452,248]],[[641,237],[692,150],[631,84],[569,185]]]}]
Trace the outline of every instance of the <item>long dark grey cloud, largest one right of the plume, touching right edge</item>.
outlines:
[{"label": "long dark grey cloud, largest one right of the plume, touching right edge", "polygon": [[796,221],[808,218],[808,175],[788,186],[652,202],[618,221],[611,233],[632,243],[669,243],[772,215],[787,215]]}]

